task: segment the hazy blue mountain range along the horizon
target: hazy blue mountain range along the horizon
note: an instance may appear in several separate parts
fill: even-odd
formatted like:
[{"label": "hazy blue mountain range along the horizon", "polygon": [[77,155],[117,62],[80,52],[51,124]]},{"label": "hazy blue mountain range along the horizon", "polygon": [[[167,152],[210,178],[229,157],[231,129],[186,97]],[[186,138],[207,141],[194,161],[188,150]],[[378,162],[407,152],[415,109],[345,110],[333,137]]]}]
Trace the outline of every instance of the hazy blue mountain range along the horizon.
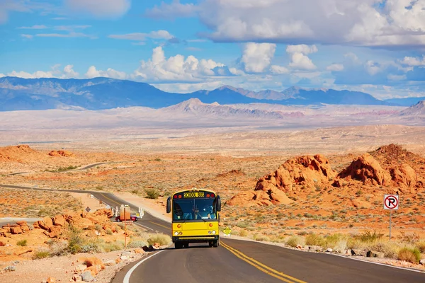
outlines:
[{"label": "hazy blue mountain range along the horizon", "polygon": [[[222,86],[213,91],[167,93],[148,83],[118,79],[21,79],[0,78],[0,111],[87,109],[102,110],[118,107],[145,106],[165,108],[197,98],[203,103],[239,104],[270,103],[280,105],[412,105],[421,98],[378,100],[368,93],[333,89],[303,89],[285,91],[248,91]],[[425,98],[422,98],[425,99]],[[269,113],[270,114],[270,113]],[[271,114],[276,115],[276,113]]]}]

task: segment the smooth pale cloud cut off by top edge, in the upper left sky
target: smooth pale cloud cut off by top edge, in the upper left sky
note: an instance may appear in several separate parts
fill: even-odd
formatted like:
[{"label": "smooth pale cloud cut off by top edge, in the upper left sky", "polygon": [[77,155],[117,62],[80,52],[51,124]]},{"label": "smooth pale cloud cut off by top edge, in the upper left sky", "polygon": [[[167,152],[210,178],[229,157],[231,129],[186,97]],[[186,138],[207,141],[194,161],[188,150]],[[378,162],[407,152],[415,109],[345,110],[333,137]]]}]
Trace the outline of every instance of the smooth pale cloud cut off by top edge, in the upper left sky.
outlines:
[{"label": "smooth pale cloud cut off by top edge, in the upper left sky", "polygon": [[89,13],[96,18],[118,18],[130,9],[130,0],[65,0],[76,13]]}]

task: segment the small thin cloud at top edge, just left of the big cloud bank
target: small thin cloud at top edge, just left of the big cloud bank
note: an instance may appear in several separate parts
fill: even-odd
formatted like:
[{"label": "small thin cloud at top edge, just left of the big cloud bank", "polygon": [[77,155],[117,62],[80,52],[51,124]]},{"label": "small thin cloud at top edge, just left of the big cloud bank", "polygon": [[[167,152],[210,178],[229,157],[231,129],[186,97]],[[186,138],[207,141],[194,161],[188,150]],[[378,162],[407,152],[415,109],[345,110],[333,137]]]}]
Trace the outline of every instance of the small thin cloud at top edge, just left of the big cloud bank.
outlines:
[{"label": "small thin cloud at top edge, just left of the big cloud bank", "polygon": [[181,4],[179,0],[173,0],[171,4],[162,2],[159,6],[147,10],[145,16],[151,18],[176,18],[194,16],[198,7],[193,4]]}]

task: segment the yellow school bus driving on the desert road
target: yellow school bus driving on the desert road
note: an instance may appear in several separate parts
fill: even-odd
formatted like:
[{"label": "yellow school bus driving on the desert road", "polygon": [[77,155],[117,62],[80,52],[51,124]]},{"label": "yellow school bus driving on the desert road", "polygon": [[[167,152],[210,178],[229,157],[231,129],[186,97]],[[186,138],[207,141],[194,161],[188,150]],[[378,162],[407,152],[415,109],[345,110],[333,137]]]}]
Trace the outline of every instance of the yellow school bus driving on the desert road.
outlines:
[{"label": "yellow school bus driving on the desert road", "polygon": [[189,243],[220,245],[218,222],[221,200],[211,190],[182,190],[166,200],[166,213],[172,212],[172,238],[176,248]]}]

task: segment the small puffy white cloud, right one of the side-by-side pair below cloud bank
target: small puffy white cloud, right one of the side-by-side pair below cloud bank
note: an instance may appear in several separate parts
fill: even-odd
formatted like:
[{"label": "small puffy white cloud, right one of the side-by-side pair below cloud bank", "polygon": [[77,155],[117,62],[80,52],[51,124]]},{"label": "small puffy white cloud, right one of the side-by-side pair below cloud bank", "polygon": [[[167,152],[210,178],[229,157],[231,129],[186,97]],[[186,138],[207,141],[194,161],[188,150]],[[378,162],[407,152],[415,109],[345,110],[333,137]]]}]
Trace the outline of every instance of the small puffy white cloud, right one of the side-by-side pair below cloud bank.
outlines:
[{"label": "small puffy white cloud, right one of the side-by-side pair below cloud bank", "polygon": [[316,45],[288,45],[286,52],[290,54],[289,67],[297,70],[314,70],[317,67],[306,54],[317,52]]}]

